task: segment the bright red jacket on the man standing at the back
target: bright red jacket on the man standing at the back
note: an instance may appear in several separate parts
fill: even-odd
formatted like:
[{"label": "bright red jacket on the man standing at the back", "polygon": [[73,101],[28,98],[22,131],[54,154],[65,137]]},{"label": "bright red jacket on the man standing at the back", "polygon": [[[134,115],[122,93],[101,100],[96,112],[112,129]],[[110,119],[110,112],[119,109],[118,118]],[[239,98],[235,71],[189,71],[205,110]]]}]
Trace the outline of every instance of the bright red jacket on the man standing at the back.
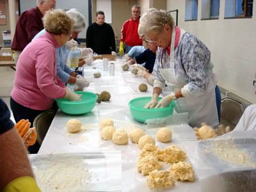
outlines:
[{"label": "bright red jacket on the man standing at the back", "polygon": [[142,45],[142,38],[138,34],[140,19],[126,20],[121,30],[121,42],[125,42],[128,46]]}]

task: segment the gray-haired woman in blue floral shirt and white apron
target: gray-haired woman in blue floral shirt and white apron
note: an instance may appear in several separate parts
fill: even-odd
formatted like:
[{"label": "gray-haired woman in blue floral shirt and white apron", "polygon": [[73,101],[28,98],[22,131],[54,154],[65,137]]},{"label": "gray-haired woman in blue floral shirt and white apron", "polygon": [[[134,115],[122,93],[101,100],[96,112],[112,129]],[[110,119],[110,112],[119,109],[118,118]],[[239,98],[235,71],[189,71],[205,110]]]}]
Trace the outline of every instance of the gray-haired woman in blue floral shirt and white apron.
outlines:
[{"label": "gray-haired woman in blue floral shirt and white apron", "polygon": [[[192,127],[202,122],[218,125],[216,76],[211,52],[204,43],[175,26],[170,13],[155,8],[143,14],[138,33],[159,47],[153,70],[153,96],[145,108],[164,108],[175,100],[176,111],[188,112]],[[162,90],[167,94],[157,102]]]}]

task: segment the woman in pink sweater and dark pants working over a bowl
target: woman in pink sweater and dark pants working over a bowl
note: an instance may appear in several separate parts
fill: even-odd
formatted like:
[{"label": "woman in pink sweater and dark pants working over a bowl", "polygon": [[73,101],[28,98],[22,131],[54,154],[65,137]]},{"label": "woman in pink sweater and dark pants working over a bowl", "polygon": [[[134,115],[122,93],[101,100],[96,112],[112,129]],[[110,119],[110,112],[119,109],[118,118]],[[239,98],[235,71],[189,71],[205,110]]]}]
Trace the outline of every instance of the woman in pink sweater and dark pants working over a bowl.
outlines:
[{"label": "woman in pink sweater and dark pants working over a bowl", "polygon": [[52,108],[55,98],[81,97],[65,88],[56,76],[56,48],[69,40],[73,20],[65,12],[55,10],[48,12],[43,21],[47,33],[29,43],[17,62],[10,99],[16,122],[24,118],[33,123],[37,115]]}]

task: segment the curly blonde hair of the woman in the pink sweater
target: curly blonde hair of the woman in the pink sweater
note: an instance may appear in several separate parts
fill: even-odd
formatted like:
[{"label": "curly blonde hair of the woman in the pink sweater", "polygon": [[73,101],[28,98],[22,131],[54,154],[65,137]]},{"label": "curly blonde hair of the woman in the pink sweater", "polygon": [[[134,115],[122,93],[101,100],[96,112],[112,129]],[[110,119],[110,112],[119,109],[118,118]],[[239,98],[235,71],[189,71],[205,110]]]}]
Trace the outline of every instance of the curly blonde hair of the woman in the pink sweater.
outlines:
[{"label": "curly blonde hair of the woman in the pink sweater", "polygon": [[43,18],[45,31],[54,35],[70,35],[74,20],[62,10],[53,10],[45,14]]}]

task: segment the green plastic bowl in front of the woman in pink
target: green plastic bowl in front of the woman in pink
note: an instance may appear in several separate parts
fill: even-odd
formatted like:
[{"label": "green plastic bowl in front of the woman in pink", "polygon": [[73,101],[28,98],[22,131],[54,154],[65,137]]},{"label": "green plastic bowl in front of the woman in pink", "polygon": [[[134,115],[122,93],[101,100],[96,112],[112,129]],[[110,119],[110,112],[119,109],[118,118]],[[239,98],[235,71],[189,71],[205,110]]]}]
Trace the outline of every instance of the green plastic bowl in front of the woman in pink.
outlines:
[{"label": "green plastic bowl in front of the woman in pink", "polygon": [[96,104],[97,95],[92,92],[76,92],[82,94],[81,101],[69,101],[67,99],[56,99],[57,105],[63,113],[69,115],[80,115],[92,111]]}]

